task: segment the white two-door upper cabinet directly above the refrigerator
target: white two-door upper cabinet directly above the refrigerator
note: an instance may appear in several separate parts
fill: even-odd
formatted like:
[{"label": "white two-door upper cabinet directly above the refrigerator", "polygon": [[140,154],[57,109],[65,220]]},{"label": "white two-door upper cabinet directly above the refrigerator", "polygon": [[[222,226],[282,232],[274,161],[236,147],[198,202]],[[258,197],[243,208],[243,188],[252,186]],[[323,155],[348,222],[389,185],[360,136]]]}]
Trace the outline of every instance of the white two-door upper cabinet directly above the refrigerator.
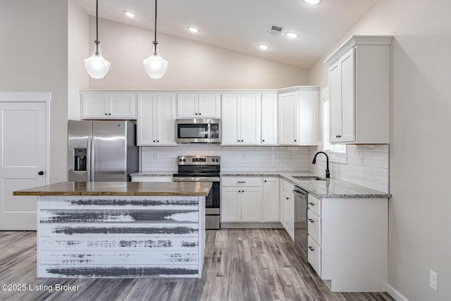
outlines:
[{"label": "white two-door upper cabinet directly above the refrigerator", "polygon": [[80,92],[82,119],[136,119],[132,92]]}]

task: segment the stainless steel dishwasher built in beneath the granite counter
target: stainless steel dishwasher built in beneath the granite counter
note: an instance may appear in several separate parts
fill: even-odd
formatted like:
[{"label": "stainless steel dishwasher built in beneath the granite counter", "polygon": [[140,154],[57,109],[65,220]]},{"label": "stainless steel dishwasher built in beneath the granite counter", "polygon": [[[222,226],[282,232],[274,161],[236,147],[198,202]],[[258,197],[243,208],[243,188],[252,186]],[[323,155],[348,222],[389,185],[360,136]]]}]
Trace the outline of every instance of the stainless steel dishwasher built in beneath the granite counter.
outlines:
[{"label": "stainless steel dishwasher built in beneath the granite counter", "polygon": [[307,263],[307,191],[295,186],[295,248]]}]

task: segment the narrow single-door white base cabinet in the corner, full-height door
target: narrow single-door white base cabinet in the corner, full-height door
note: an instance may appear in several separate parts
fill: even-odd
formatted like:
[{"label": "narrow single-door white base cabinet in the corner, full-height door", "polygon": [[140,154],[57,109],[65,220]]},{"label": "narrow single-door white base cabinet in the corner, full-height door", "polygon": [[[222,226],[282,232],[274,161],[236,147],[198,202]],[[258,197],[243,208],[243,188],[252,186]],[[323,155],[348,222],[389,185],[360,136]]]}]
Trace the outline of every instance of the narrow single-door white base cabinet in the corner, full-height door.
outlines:
[{"label": "narrow single-door white base cabinet in the corner, full-height door", "polygon": [[263,221],[280,221],[279,178],[263,178]]}]

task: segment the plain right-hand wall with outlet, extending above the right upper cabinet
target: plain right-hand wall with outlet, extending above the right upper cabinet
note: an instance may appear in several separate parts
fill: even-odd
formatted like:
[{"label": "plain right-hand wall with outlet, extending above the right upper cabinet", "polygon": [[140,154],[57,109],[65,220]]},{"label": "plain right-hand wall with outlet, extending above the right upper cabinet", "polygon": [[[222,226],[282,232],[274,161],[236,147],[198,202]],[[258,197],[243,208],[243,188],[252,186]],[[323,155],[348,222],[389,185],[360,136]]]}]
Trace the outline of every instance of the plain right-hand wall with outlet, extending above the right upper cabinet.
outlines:
[{"label": "plain right-hand wall with outlet, extending above the right upper cabinet", "polygon": [[[449,0],[381,0],[328,51],[350,35],[394,35],[388,282],[411,301],[451,296],[450,11]],[[325,87],[322,61],[309,83]],[[429,288],[430,269],[438,292]]]}]

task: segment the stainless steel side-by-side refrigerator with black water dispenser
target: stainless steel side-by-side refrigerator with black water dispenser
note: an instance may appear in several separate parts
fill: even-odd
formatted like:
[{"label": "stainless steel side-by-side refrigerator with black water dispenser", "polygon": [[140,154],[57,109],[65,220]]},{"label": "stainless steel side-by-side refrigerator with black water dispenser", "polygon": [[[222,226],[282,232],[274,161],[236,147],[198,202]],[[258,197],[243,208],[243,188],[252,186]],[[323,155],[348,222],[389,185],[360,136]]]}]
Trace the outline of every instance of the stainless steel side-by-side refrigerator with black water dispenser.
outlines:
[{"label": "stainless steel side-by-side refrigerator with black water dispenser", "polygon": [[129,181],[139,169],[130,121],[69,121],[68,142],[69,181]]}]

